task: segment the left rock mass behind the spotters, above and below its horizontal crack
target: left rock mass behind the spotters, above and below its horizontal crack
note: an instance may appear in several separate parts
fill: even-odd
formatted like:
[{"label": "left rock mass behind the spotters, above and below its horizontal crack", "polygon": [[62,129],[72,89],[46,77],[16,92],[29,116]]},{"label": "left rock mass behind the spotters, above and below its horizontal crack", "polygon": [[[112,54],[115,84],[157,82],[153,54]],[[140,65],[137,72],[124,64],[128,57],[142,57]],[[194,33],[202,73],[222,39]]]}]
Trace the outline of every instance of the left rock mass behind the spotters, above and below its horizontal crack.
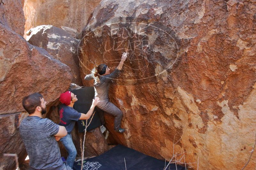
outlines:
[{"label": "left rock mass behind the spotters, above and below its horizontal crack", "polygon": [[[20,35],[0,23],[0,169],[13,169],[15,159],[2,153],[26,158],[19,136],[19,123],[26,117],[22,98],[40,92],[51,106],[71,82],[70,68],[52,58],[44,49],[30,45]],[[61,81],[61,85],[60,82]]]}]

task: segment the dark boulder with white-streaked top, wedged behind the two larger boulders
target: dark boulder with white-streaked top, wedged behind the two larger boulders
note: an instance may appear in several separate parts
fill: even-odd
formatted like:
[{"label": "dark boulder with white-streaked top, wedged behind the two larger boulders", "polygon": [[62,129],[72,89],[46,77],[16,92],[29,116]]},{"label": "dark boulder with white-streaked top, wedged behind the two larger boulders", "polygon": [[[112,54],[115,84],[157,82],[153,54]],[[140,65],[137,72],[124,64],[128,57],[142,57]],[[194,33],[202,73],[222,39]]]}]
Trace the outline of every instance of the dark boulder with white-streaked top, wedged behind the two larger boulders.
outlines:
[{"label": "dark boulder with white-streaked top, wedged behind the two larger boulders", "polygon": [[71,68],[72,83],[82,85],[77,56],[78,39],[61,28],[41,25],[27,32],[27,41],[45,49],[54,59]]}]

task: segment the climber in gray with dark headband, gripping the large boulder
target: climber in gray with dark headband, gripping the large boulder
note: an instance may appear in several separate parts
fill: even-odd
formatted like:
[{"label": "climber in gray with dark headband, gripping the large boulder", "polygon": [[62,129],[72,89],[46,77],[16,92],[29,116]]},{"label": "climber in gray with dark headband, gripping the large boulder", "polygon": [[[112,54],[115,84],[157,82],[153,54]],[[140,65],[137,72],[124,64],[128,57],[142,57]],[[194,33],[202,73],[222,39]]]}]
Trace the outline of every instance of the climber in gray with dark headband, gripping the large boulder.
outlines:
[{"label": "climber in gray with dark headband, gripping the large boulder", "polygon": [[[125,131],[125,129],[120,127],[123,113],[118,107],[116,107],[108,100],[108,89],[111,79],[117,77],[120,74],[120,70],[122,70],[126,58],[127,53],[123,53],[119,65],[111,74],[110,69],[106,64],[100,64],[98,65],[98,67],[92,69],[91,74],[88,74],[84,77],[85,80],[94,79],[95,97],[99,97],[101,101],[97,105],[97,110],[101,112],[99,115],[103,115],[102,112],[105,111],[106,113],[115,116],[114,130],[120,133],[123,133]],[[102,119],[104,119],[104,117],[101,117],[101,120]]]}]

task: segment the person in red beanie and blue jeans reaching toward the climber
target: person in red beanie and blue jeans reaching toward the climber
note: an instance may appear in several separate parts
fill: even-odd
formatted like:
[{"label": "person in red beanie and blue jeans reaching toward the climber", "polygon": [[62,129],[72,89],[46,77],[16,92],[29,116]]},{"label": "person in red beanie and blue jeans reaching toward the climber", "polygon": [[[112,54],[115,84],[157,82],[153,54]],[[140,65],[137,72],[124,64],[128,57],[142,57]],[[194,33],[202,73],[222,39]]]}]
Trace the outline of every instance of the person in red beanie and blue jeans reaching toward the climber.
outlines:
[{"label": "person in red beanie and blue jeans reaching toward the climber", "polygon": [[60,141],[68,152],[67,165],[71,168],[73,167],[76,157],[76,148],[72,141],[71,131],[73,130],[76,121],[89,119],[93,113],[95,106],[100,102],[99,98],[96,97],[92,102],[90,110],[86,114],[83,114],[77,112],[73,108],[74,103],[77,100],[78,99],[76,98],[76,95],[74,95],[74,93],[72,93],[71,91],[66,91],[65,93],[62,93],[59,97],[59,101],[63,103],[59,108],[59,125],[64,126],[67,130],[67,135],[61,138]]}]

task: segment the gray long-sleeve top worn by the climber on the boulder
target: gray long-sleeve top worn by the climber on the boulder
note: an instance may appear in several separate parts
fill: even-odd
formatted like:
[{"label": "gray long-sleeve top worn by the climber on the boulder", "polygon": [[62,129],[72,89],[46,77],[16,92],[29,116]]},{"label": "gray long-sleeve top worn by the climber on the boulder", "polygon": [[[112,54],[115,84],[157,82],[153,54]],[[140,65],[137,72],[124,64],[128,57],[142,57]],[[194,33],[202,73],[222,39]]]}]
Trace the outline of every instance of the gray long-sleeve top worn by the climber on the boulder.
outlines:
[{"label": "gray long-sleeve top worn by the climber on the boulder", "polygon": [[[94,81],[95,97],[98,97],[100,101],[108,101],[108,89],[110,86],[109,81],[117,77],[120,74],[119,69],[115,69],[111,74],[100,76],[100,82]],[[85,80],[94,79],[92,74],[88,74],[84,77]]]}]

